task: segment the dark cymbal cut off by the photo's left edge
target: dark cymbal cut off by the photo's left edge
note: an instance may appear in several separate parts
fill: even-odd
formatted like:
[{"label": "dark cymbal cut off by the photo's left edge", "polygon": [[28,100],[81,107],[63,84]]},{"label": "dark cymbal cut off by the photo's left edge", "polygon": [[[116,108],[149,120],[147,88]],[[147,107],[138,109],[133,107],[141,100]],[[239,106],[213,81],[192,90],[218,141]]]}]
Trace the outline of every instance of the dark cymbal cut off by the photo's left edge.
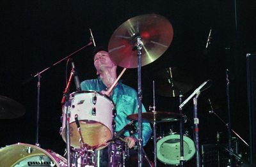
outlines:
[{"label": "dark cymbal cut off by the photo's left edge", "polygon": [[0,96],[0,119],[15,119],[26,112],[24,106],[17,101]]}]

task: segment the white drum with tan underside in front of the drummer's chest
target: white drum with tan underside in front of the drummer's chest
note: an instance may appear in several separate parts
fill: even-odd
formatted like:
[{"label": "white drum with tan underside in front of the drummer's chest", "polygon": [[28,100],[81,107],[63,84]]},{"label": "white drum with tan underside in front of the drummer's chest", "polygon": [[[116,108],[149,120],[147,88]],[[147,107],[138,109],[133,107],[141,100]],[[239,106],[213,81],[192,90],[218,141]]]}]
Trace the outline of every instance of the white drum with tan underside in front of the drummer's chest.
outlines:
[{"label": "white drum with tan underside in front of the drummer's chest", "polygon": [[[81,91],[70,94],[70,143],[74,148],[80,148],[80,135],[77,130],[75,116],[79,120],[84,143],[97,150],[107,146],[107,141],[113,137],[113,116],[115,105],[111,99],[99,92]],[[63,107],[61,136],[65,141],[65,112]]]}]

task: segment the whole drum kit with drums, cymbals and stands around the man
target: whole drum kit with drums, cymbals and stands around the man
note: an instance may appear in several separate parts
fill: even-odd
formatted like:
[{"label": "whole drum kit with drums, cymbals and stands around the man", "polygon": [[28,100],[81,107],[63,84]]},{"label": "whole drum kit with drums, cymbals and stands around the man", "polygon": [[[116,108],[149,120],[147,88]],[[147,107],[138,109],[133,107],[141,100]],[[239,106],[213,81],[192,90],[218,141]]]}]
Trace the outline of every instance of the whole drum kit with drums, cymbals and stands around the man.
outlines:
[{"label": "whole drum kit with drums, cymbals and stands around the man", "polygon": [[[111,60],[123,67],[124,70],[138,67],[138,97],[141,97],[141,66],[156,61],[168,49],[172,38],[172,24],[166,18],[156,14],[131,18],[120,25],[111,36],[108,45]],[[160,85],[156,89],[163,93],[161,95],[177,97],[191,89],[191,82],[183,82],[183,78],[175,80],[179,73],[177,68],[168,68],[166,72],[165,76],[159,75],[159,81],[166,81],[163,77],[168,78],[168,83],[163,83],[166,85]],[[129,157],[127,145],[122,138],[119,138],[120,142],[113,141],[116,135],[113,133],[116,115],[115,103],[108,96],[95,91],[77,91],[68,94],[66,98],[63,105],[60,134],[67,145],[70,143],[72,147],[70,152],[67,150],[70,162],[51,150],[41,149],[37,145],[17,143],[0,149],[1,165],[100,166],[99,161],[102,160],[100,155],[108,154],[106,166],[129,166],[126,163]],[[139,99],[141,100],[141,98]],[[23,106],[12,99],[0,96],[0,104],[1,119],[20,117],[25,113]],[[143,149],[140,148],[141,122],[150,122],[154,126],[154,165],[148,163],[149,166],[157,166],[157,159],[164,164],[179,165],[180,161],[188,161],[195,155],[195,143],[186,134],[183,136],[181,133],[183,137],[180,138],[180,134],[172,132],[156,139],[157,123],[181,120],[183,124],[184,117],[182,112],[156,112],[155,110],[146,113],[139,110],[139,113],[127,116],[127,119],[139,122],[139,166],[142,155],[147,158]],[[70,138],[67,138],[68,135]],[[104,152],[106,150],[104,148],[108,148],[106,152]]]}]

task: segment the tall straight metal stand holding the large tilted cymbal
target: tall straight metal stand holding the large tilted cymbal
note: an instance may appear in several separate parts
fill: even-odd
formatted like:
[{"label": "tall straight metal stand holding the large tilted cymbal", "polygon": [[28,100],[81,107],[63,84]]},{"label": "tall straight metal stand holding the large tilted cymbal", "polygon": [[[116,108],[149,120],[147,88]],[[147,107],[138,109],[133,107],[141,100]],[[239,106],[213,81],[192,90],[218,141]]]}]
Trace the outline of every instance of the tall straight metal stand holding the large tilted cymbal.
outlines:
[{"label": "tall straight metal stand holding the large tilted cymbal", "polygon": [[140,35],[136,36],[136,44],[138,50],[138,167],[142,167],[142,149],[143,149],[143,140],[142,140],[142,90],[141,90],[141,37]]}]

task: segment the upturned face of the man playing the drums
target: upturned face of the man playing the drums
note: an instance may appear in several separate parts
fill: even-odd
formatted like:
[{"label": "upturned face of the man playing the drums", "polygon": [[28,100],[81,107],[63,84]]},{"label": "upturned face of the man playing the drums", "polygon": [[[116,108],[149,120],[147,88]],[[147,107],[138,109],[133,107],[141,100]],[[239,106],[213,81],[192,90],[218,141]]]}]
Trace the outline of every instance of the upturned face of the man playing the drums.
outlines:
[{"label": "upturned face of the man playing the drums", "polygon": [[94,66],[97,69],[97,73],[99,73],[100,70],[104,70],[106,68],[113,68],[113,66],[115,66],[115,64],[111,61],[108,52],[103,50],[97,52],[93,60]]}]

